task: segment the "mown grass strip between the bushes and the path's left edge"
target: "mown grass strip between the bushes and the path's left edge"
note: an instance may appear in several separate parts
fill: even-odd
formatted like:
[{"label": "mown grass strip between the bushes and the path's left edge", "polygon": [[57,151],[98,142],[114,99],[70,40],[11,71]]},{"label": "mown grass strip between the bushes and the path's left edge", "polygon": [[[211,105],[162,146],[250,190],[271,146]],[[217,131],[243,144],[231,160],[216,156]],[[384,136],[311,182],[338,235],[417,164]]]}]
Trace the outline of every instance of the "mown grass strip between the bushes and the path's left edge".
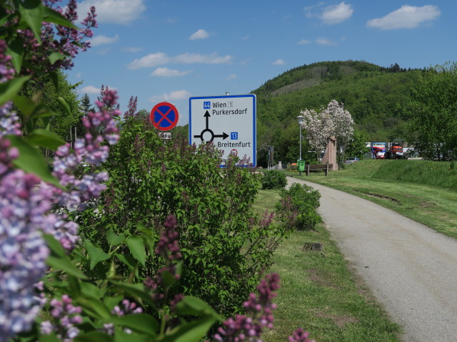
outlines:
[{"label": "mown grass strip between the bushes and the path's left edge", "polygon": [[[255,209],[272,211],[280,190],[261,190]],[[303,248],[322,244],[323,250]],[[273,254],[268,270],[281,276],[272,331],[265,342],[283,342],[298,327],[318,342],[400,341],[399,326],[389,321],[370,292],[356,279],[336,244],[320,225],[311,232],[291,232]]]}]

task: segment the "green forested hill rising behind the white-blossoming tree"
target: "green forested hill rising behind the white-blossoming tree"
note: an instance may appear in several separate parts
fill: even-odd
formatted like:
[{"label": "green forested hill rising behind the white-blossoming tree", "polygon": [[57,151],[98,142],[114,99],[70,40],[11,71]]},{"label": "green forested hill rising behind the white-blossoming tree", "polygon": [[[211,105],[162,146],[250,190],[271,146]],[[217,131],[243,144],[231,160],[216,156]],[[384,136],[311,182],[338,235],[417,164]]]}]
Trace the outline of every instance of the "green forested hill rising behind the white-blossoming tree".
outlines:
[{"label": "green forested hill rising behind the white-blossoming tree", "polygon": [[402,138],[408,95],[421,72],[398,64],[384,68],[363,61],[327,61],[299,66],[266,81],[252,91],[257,96],[259,164],[265,162],[268,145],[275,146],[277,160],[291,159],[296,154],[293,141],[300,110],[319,110],[332,99],[344,104],[356,129],[368,133],[370,140]]}]

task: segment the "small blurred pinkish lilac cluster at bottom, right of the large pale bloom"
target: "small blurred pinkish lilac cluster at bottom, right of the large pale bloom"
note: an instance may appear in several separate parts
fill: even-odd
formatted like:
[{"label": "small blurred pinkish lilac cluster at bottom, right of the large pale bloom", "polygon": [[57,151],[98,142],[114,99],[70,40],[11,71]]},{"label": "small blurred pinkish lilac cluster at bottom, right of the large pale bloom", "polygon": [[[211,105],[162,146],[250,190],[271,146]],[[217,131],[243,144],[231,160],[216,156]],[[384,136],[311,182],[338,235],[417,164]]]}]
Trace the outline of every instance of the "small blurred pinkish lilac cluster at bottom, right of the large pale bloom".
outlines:
[{"label": "small blurred pinkish lilac cluster at bottom, right of the large pale bloom", "polygon": [[40,328],[41,333],[49,335],[53,331],[56,336],[64,342],[71,342],[79,334],[79,329],[76,325],[82,323],[81,307],[74,306],[71,298],[64,294],[62,300],[51,299],[51,316],[54,317],[54,322],[43,321]]}]

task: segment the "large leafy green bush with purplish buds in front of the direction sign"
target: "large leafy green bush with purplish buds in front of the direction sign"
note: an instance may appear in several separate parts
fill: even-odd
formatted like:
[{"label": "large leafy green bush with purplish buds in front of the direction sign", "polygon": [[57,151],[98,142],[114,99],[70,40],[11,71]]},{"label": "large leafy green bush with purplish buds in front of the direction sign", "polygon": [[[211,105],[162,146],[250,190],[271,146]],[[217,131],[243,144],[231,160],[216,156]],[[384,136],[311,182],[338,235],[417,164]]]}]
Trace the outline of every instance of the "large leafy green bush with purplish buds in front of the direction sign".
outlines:
[{"label": "large leafy green bush with purplish buds in front of the direction sign", "polygon": [[[77,214],[80,233],[108,253],[108,232],[141,237],[140,222],[157,241],[173,214],[183,261],[176,292],[199,296],[224,315],[243,311],[286,229],[271,224],[272,215],[253,213],[260,175],[230,160],[221,168],[220,157],[213,145],[164,141],[149,120],[127,118],[104,164],[109,190]],[[139,280],[161,266],[152,253],[144,265],[133,264]]]}]

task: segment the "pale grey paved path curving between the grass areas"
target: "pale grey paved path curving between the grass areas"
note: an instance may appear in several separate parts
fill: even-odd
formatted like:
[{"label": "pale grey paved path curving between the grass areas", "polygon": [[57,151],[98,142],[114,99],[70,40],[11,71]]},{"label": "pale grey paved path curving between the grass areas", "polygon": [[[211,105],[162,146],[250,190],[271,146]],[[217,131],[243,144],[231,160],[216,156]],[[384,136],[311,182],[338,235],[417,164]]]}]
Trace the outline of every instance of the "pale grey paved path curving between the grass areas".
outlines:
[{"label": "pale grey paved path curving between the grass areas", "polygon": [[316,183],[324,222],[405,342],[457,341],[457,240],[366,199]]}]

